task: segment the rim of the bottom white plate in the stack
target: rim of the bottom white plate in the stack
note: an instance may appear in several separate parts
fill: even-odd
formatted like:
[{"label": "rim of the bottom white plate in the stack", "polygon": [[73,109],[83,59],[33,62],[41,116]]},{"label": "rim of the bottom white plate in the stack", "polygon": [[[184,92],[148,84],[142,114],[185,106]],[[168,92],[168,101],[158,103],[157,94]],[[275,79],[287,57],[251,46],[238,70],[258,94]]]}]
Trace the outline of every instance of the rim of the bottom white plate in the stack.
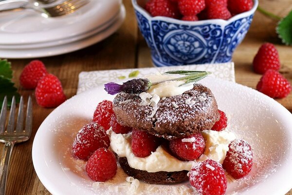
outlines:
[{"label": "rim of the bottom white plate in the stack", "polygon": [[0,58],[24,59],[24,58],[41,58],[66,54],[79,49],[88,47],[112,35],[123,23],[126,17],[124,5],[121,6],[121,12],[116,21],[105,30],[98,32],[85,39],[80,39],[66,44],[60,44],[52,47],[41,47],[31,49],[0,49]]}]

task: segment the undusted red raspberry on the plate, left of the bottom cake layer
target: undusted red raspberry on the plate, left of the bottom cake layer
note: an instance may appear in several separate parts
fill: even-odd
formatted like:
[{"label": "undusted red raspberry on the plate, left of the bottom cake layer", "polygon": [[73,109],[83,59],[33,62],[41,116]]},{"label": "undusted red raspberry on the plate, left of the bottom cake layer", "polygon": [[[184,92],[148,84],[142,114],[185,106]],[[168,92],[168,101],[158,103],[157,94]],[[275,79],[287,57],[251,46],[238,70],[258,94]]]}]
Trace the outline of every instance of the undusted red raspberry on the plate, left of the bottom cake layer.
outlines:
[{"label": "undusted red raspberry on the plate, left of the bottom cake layer", "polygon": [[117,173],[114,154],[105,148],[97,149],[86,163],[86,173],[93,181],[107,181]]}]

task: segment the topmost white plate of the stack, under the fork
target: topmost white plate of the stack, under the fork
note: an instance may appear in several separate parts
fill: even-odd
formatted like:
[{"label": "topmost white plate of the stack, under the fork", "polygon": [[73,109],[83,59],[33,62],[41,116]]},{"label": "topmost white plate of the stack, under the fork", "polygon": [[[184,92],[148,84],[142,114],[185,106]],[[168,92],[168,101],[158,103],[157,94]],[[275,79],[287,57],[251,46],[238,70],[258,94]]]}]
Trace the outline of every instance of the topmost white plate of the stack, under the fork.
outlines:
[{"label": "topmost white plate of the stack, under the fork", "polygon": [[38,13],[1,15],[0,44],[26,44],[70,38],[96,29],[120,10],[121,0],[91,0],[70,15],[44,18]]}]

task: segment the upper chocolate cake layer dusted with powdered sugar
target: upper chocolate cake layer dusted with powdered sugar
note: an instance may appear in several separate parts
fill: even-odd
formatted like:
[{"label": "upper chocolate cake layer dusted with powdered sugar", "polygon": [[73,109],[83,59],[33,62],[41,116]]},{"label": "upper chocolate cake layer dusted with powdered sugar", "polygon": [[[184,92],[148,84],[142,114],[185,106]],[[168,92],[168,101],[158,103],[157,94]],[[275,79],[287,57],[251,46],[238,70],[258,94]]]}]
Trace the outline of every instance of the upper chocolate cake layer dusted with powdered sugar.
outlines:
[{"label": "upper chocolate cake layer dusted with powdered sugar", "polygon": [[155,107],[140,105],[141,101],[138,94],[119,93],[113,100],[117,121],[168,140],[211,129],[220,117],[214,95],[201,84],[163,98]]}]

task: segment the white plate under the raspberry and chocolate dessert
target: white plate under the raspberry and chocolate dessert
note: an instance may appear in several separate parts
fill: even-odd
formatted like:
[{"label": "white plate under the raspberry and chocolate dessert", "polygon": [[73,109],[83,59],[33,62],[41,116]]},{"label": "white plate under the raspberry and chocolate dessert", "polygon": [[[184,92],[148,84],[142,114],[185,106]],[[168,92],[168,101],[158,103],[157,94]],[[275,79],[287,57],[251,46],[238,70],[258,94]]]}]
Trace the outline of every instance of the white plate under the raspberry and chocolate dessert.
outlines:
[{"label": "white plate under the raspberry and chocolate dessert", "polygon": [[[292,188],[292,114],[251,88],[216,78],[206,78],[202,83],[212,90],[219,109],[227,114],[229,130],[247,140],[254,150],[252,172],[229,183],[226,195],[285,195]],[[121,171],[111,184],[92,187],[94,182],[84,172],[84,163],[71,156],[76,133],[91,121],[97,103],[103,99],[113,99],[103,86],[74,96],[39,127],[33,144],[33,163],[37,176],[53,195],[129,194],[113,192],[115,182],[120,182],[120,190],[125,189]],[[147,195],[191,192],[188,182],[163,186],[141,182],[140,187],[139,193],[147,191]]]}]

